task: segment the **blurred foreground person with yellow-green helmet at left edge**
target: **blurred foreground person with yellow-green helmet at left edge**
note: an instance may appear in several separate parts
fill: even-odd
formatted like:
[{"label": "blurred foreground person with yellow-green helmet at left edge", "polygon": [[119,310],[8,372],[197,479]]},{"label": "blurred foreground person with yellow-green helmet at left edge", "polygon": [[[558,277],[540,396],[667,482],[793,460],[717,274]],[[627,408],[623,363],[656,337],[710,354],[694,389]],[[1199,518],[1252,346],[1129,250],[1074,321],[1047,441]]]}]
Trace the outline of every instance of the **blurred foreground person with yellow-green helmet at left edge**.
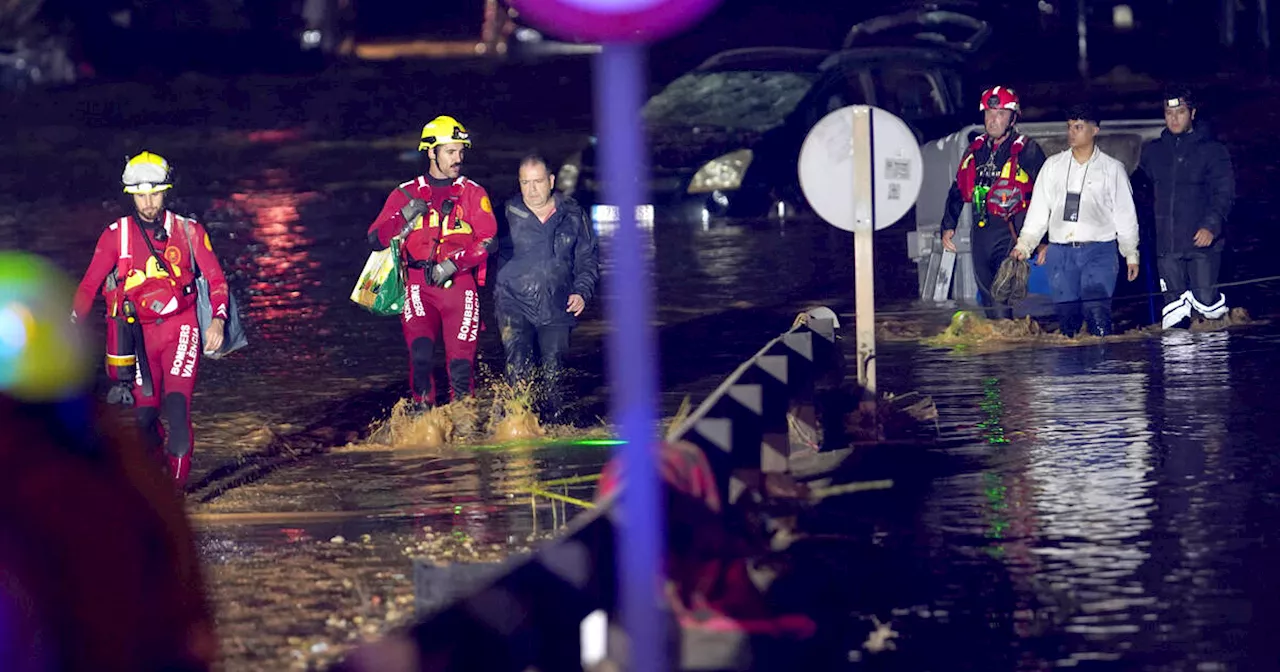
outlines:
[{"label": "blurred foreground person with yellow-green helmet at left edge", "polygon": [[90,396],[69,279],[0,253],[0,669],[209,669],[191,529]]}]

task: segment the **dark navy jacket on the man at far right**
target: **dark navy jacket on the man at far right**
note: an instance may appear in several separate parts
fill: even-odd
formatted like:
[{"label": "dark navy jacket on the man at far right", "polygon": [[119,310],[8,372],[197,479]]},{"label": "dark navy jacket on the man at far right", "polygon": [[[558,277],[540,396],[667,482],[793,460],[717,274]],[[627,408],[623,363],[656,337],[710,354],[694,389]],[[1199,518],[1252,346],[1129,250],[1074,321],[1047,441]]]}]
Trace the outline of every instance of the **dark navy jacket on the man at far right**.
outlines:
[{"label": "dark navy jacket on the man at far right", "polygon": [[1221,246],[1235,201],[1235,175],[1226,147],[1203,124],[1178,136],[1166,128],[1142,148],[1138,168],[1155,191],[1157,253],[1196,250],[1199,229],[1208,229],[1213,246]]}]

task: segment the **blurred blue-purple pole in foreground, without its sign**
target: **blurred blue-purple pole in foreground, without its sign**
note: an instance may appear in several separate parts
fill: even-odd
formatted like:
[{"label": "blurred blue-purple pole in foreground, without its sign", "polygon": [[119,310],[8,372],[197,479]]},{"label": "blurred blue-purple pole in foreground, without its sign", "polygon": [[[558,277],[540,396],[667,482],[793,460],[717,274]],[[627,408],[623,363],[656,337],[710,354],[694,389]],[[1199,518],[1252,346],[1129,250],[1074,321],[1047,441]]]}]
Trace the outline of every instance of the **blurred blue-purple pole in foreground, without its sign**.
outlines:
[{"label": "blurred blue-purple pole in foreground, without its sign", "polygon": [[609,387],[625,486],[618,526],[618,582],[627,631],[627,669],[666,669],[666,635],[658,611],[662,584],[662,499],[657,468],[658,352],[654,347],[649,265],[636,227],[636,206],[648,191],[644,131],[644,46],[605,45],[595,58],[595,118],[600,138],[604,200],[618,207],[613,236],[613,283],[605,298],[609,325]]}]

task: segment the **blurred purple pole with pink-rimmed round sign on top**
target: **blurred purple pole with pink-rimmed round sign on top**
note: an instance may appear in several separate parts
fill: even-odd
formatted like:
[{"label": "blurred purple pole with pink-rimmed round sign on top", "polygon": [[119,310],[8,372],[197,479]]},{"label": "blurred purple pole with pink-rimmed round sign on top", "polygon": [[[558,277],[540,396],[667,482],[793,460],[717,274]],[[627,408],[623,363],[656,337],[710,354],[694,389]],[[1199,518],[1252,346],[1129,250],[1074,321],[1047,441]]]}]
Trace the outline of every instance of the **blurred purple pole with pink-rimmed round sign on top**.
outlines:
[{"label": "blurred purple pole with pink-rimmed round sign on top", "polygon": [[[604,44],[595,60],[595,119],[600,137],[604,195],[618,207],[613,278],[605,293],[611,415],[621,448],[618,593],[634,672],[667,668],[668,634],[658,609],[664,547],[662,484],[658,479],[658,348],[653,288],[636,206],[648,179],[644,123],[644,45],[701,19],[719,0],[513,0],[548,35]],[[599,623],[588,630],[599,630]],[[586,649],[588,646],[584,646]],[[591,646],[595,648],[595,646]]]}]

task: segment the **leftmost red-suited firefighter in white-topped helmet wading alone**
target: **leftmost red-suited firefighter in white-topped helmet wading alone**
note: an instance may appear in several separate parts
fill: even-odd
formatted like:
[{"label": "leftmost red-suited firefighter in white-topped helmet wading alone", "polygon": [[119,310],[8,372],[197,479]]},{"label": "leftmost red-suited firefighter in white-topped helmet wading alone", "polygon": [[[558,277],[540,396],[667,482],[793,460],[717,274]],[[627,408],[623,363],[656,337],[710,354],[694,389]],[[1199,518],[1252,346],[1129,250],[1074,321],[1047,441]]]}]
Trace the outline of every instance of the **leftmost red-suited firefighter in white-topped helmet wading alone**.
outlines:
[{"label": "leftmost red-suited firefighter in white-topped helmet wading alone", "polygon": [[[109,224],[99,238],[76,292],[72,320],[88,314],[101,288],[109,323],[108,370],[122,384],[133,381],[123,396],[132,397],[152,452],[168,448],[169,474],[182,488],[195,447],[191,393],[201,349],[215,352],[223,344],[227,279],[205,228],[164,207],[165,192],[173,187],[168,161],[142,152],[125,164],[122,182],[134,211]],[[212,307],[204,334],[196,316],[196,266],[209,280]],[[122,396],[119,387],[114,396]],[[168,440],[161,417],[169,426]]]}]

